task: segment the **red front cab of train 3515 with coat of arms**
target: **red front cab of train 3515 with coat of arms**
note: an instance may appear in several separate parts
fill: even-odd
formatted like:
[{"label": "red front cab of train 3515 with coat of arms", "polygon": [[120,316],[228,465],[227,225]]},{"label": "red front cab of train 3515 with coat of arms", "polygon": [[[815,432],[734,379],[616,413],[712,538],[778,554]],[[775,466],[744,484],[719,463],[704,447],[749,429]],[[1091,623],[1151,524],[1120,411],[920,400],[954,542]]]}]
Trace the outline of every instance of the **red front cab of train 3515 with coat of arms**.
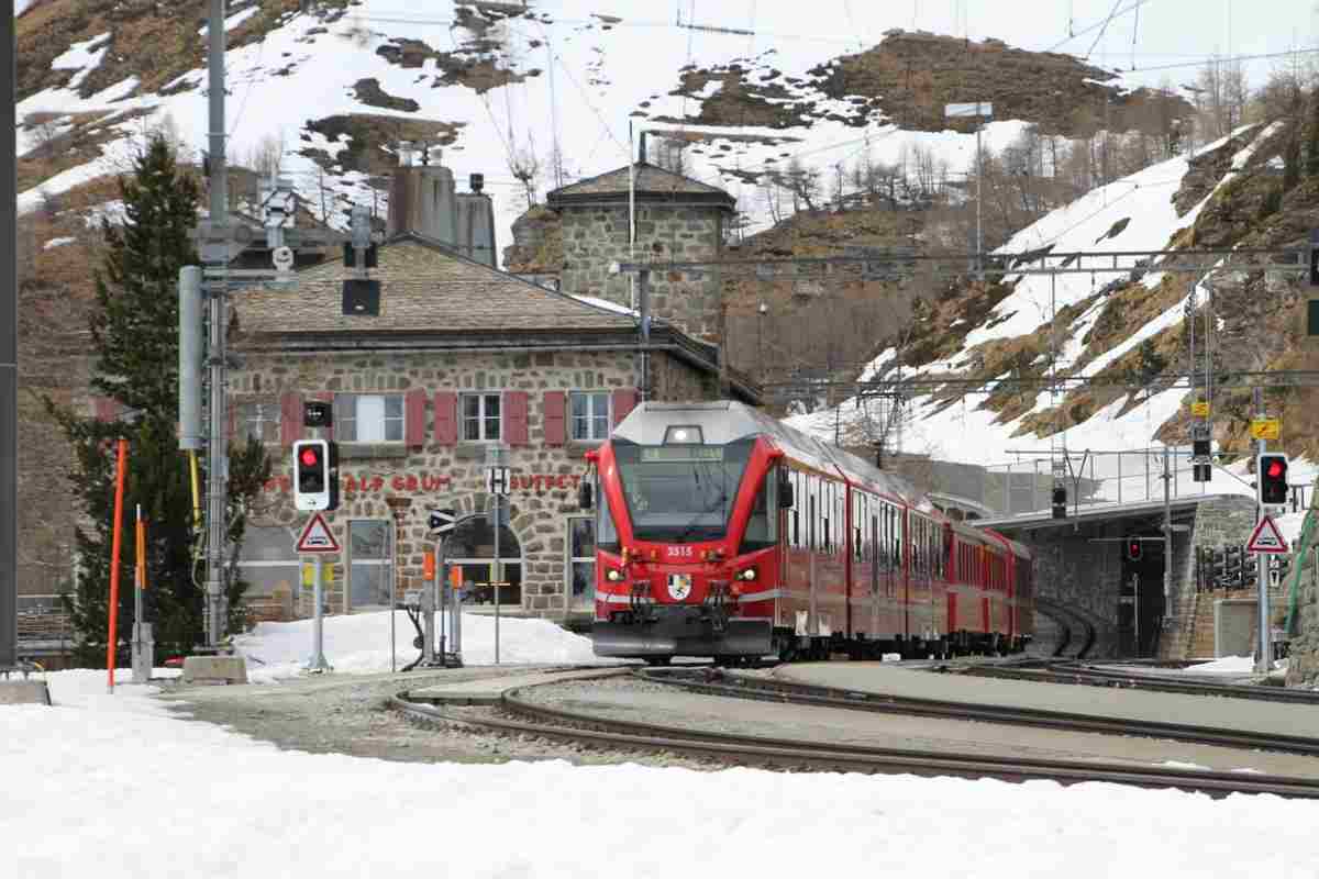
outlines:
[{"label": "red front cab of train 3515 with coat of arms", "polygon": [[595,652],[654,663],[770,654],[778,511],[791,499],[782,453],[756,436],[727,447],[613,440],[590,457],[600,486]]}]

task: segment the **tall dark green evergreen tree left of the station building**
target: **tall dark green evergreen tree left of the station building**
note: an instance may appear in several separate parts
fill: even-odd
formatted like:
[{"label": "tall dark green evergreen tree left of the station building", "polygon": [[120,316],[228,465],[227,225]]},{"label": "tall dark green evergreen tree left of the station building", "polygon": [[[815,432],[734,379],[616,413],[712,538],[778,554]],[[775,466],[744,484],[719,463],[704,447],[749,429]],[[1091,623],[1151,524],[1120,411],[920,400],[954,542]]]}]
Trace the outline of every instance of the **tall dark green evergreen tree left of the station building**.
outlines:
[{"label": "tall dark green evergreen tree left of the station building", "polygon": [[[113,422],[77,415],[46,401],[74,448],[70,481],[86,522],[77,530],[77,593],[65,596],[80,664],[106,662],[109,569],[115,510],[116,440],[129,443],[119,576],[119,650],[133,626],[133,540],[138,505],[148,519],[146,618],[154,623],[158,655],[191,651],[202,643],[203,559],[193,519],[187,459],[175,438],[178,407],[178,271],[195,264],[187,232],[197,224],[198,186],[175,165],[164,137],[152,137],[136,158],[133,177],[120,178],[125,220],[102,221],[106,256],[96,271],[91,337],[94,391],[117,401]],[[237,547],[244,510],[269,477],[259,443],[230,459],[230,527]],[[241,618],[244,584],[227,577],[231,630]]]}]

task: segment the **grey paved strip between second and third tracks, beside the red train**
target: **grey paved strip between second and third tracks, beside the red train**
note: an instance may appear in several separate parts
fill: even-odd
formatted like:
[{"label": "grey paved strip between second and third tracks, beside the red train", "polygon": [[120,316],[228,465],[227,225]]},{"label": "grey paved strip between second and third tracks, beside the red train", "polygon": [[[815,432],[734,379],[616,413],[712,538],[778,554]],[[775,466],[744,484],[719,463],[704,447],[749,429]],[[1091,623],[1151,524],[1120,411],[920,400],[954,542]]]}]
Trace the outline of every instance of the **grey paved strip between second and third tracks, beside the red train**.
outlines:
[{"label": "grey paved strip between second and third tracks, beside the red train", "polygon": [[993,680],[964,675],[940,675],[902,668],[892,663],[783,666],[774,669],[774,676],[798,684],[836,687],[884,696],[942,698],[977,705],[1043,709],[1104,718],[1133,718],[1186,726],[1319,738],[1319,706],[1316,705]]}]

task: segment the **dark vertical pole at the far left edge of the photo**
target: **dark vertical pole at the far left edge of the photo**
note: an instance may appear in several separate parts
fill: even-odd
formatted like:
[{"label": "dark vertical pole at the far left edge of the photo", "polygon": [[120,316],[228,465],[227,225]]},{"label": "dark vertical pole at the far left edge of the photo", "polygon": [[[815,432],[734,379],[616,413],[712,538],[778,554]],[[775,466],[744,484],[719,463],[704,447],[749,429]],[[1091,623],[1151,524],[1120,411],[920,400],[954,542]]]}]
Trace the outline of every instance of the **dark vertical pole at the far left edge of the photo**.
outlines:
[{"label": "dark vertical pole at the far left edge of the photo", "polygon": [[13,0],[0,0],[0,671],[18,660],[18,211]]}]

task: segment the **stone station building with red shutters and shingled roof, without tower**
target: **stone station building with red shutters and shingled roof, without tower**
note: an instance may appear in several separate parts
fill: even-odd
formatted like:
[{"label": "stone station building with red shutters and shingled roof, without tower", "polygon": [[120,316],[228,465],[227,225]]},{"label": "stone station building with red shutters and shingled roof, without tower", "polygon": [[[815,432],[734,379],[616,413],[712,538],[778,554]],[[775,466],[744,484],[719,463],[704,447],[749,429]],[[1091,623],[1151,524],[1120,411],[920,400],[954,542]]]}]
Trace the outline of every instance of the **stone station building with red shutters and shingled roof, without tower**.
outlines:
[{"label": "stone station building with red shutters and shingled roof, without tower", "polygon": [[[397,596],[422,585],[423,553],[437,544],[429,511],[488,509],[485,451],[501,443],[513,470],[501,604],[580,621],[594,601],[594,519],[575,492],[583,456],[636,405],[645,369],[652,399],[758,402],[747,381],[720,370],[715,345],[667,322],[642,349],[630,311],[530,283],[425,236],[400,233],[379,248],[377,315],[344,312],[350,277],[322,264],[293,290],[233,298],[233,432],[266,443],[276,464],[240,559],[264,617],[311,611],[294,552],[307,521],[293,509],[289,449],[298,439],[322,432],[339,445],[340,506],[326,515],[343,548],[326,559],[332,613],[388,606],[392,498],[409,502]],[[332,402],[332,427],[303,428],[310,399]],[[489,582],[491,527],[474,522],[447,539],[474,597],[489,600],[479,584]]]}]

